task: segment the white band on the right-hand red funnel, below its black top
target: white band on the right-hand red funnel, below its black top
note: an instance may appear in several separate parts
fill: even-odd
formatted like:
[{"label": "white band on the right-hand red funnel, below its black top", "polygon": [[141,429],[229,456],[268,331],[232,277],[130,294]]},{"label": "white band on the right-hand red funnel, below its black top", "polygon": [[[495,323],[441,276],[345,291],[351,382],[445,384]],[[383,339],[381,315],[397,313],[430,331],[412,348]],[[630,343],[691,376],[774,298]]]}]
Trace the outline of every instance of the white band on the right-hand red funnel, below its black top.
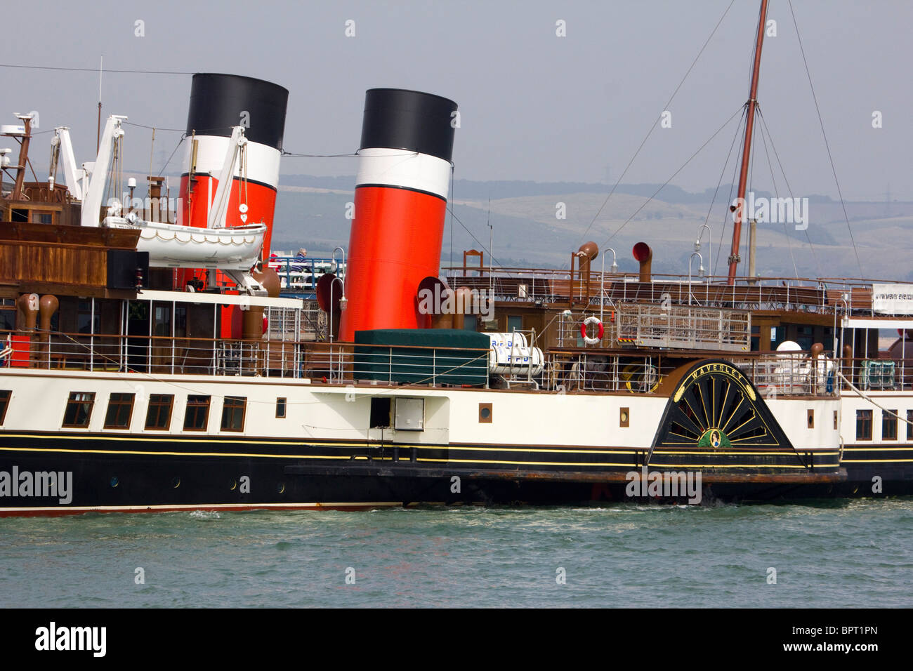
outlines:
[{"label": "white band on the right-hand red funnel, below its black top", "polygon": [[[447,199],[450,163],[402,149],[360,149],[355,185],[385,184],[425,191]],[[357,213],[356,213],[357,215]]]}]

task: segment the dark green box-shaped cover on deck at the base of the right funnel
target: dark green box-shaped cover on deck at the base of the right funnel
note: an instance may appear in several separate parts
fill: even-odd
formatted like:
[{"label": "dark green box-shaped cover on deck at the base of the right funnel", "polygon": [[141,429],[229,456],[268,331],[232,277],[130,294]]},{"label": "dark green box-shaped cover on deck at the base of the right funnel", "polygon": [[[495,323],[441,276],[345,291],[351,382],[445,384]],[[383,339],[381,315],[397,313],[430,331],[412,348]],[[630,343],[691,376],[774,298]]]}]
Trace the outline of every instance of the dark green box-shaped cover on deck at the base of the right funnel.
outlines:
[{"label": "dark green box-shaped cover on deck at the base of the right funnel", "polygon": [[486,334],[471,330],[356,330],[355,379],[484,386],[490,348]]}]

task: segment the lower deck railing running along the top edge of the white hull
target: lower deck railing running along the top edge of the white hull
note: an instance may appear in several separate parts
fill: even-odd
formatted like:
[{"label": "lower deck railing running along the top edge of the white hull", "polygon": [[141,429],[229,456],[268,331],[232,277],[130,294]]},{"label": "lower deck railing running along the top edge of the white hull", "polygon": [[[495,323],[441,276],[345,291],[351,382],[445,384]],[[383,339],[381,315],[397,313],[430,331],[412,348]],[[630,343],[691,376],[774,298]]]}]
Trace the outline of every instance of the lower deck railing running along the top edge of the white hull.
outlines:
[{"label": "lower deck railing running along the top edge of the white hull", "polygon": [[[507,387],[490,373],[490,350],[314,341],[213,340],[166,336],[0,333],[0,367],[54,371],[140,372],[152,375],[262,376],[334,384]],[[6,351],[8,350],[8,351]],[[540,393],[656,393],[670,372],[689,361],[674,352],[557,348],[545,352],[541,372],[530,381]],[[698,352],[695,357],[701,356]],[[913,387],[913,369],[903,362],[820,359],[808,352],[745,352],[727,356],[762,394],[822,396],[841,388],[836,371],[861,389]],[[525,373],[524,373],[525,375]],[[845,386],[845,385],[843,385]]]}]

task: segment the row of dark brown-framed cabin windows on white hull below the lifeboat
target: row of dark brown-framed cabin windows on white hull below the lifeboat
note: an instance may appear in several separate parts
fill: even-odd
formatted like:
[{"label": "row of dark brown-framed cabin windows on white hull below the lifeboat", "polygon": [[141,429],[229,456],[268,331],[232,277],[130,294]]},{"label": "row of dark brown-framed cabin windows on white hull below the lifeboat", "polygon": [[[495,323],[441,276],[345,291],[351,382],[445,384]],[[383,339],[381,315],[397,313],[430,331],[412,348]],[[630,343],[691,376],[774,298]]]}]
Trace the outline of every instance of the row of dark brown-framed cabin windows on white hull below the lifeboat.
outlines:
[{"label": "row of dark brown-framed cabin windows on white hull below the lifeboat", "polygon": [[[6,409],[12,392],[0,389],[0,426],[3,425]],[[133,414],[133,393],[112,392],[108,400],[108,412],[105,414],[106,429],[128,429]],[[209,423],[209,396],[187,396],[187,407],[184,411],[184,431],[205,431]],[[94,392],[70,392],[67,408],[63,414],[64,428],[85,428],[89,426],[92,406],[95,404]],[[146,429],[167,431],[171,426],[174,396],[171,393],[152,393],[146,408]],[[247,414],[247,397],[226,396],[222,404],[222,430],[244,431],[244,420]],[[276,399],[276,416],[286,416],[286,399]]]}]

